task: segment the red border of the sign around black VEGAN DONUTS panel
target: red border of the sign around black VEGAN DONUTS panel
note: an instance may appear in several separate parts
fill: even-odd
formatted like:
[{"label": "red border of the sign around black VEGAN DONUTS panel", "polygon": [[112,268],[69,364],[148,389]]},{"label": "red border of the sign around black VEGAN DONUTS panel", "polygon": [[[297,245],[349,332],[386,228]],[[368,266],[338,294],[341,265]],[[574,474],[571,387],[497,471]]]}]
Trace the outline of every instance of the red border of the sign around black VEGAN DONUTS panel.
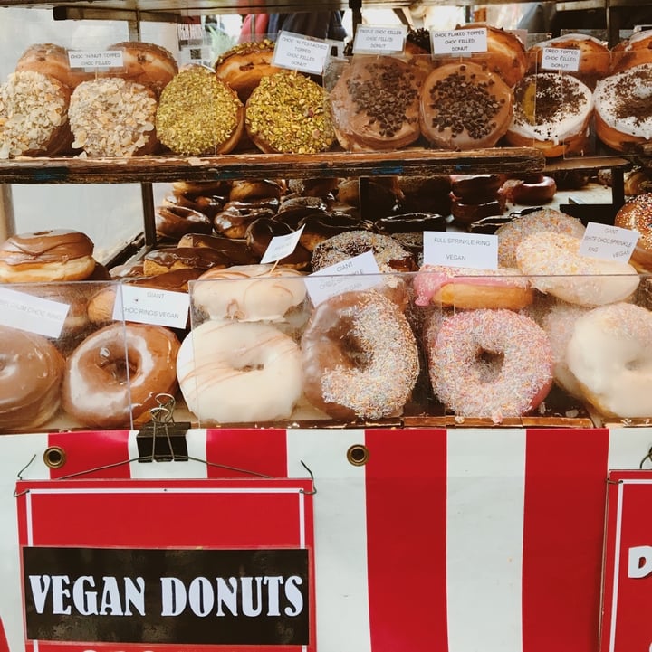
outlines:
[{"label": "red border of the sign around black VEGAN DONUTS panel", "polygon": [[[312,481],[293,478],[54,480],[16,483],[24,546],[264,549],[309,552],[308,646],[237,646],[238,652],[314,652],[316,605]],[[21,569],[21,576],[22,576]],[[24,587],[23,587],[24,591]],[[226,645],[26,641],[27,652],[231,651]]]}]

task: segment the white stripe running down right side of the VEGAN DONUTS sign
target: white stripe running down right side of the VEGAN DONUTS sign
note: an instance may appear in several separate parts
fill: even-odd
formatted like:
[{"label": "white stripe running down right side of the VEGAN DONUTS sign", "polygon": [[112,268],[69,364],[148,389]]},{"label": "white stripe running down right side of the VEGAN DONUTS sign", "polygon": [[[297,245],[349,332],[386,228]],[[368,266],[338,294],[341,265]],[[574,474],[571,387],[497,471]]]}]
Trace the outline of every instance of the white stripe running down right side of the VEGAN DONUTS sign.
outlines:
[{"label": "white stripe running down right side of the VEGAN DONUTS sign", "polygon": [[365,473],[346,452],[363,430],[287,430],[289,477],[309,477],[315,528],[317,649],[370,652]]}]

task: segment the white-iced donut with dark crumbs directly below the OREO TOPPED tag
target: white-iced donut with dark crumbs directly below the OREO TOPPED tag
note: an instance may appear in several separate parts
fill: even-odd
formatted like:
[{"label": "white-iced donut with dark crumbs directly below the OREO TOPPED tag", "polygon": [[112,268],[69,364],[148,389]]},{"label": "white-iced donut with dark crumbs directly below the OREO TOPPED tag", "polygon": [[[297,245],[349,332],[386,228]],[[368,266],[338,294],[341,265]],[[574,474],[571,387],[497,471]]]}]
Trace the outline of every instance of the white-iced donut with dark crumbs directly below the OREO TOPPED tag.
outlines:
[{"label": "white-iced donut with dark crumbs directly below the OREO TOPPED tag", "polygon": [[589,139],[593,93],[572,75],[538,72],[514,88],[512,122],[506,141],[536,147],[546,158],[582,154]]}]

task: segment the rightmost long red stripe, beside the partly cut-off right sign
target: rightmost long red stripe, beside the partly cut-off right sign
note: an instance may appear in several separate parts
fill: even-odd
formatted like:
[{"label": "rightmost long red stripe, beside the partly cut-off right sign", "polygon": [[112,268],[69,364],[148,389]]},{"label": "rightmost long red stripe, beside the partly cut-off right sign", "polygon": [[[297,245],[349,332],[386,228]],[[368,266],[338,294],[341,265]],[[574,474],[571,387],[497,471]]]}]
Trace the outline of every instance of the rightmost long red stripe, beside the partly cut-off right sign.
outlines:
[{"label": "rightmost long red stripe, beside the partly cut-off right sign", "polygon": [[596,652],[609,430],[528,430],[523,652]]}]

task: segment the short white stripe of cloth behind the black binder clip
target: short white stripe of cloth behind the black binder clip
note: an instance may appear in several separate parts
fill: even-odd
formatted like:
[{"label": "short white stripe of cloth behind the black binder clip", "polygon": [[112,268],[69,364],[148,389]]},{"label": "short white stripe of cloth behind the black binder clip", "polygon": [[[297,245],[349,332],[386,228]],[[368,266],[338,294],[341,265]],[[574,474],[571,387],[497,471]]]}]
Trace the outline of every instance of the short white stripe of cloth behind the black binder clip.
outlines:
[{"label": "short white stripe of cloth behind the black binder clip", "polygon": [[[129,463],[129,472],[133,478],[197,478],[208,477],[206,465],[206,430],[191,429],[187,431],[187,454],[190,459],[187,461],[172,462],[139,462],[138,442],[136,439],[137,430],[129,433],[129,459],[135,460]],[[150,451],[147,451],[151,457]]]}]

